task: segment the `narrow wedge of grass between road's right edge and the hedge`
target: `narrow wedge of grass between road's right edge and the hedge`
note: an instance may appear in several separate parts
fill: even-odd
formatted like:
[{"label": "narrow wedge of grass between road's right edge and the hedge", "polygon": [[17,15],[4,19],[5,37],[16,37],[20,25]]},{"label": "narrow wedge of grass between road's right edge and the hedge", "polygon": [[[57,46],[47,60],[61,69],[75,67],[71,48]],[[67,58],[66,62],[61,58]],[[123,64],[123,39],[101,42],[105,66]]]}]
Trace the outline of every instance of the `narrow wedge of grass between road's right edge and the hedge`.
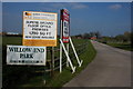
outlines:
[{"label": "narrow wedge of grass between road's right edge and the hedge", "polygon": [[123,50],[133,51],[133,48],[131,47],[131,43],[106,43],[106,44],[115,47],[115,48],[120,48],[120,49],[123,49]]}]

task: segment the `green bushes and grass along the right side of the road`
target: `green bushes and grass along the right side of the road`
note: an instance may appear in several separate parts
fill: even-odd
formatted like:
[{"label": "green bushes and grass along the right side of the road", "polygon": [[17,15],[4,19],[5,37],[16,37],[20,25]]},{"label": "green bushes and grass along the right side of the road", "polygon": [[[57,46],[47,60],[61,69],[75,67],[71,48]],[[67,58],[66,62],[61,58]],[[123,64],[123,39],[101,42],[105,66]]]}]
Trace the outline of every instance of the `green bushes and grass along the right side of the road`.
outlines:
[{"label": "green bushes and grass along the right side of the road", "polygon": [[115,48],[133,51],[132,41],[133,32],[125,31],[123,34],[117,34],[115,37],[102,37],[98,41],[110,44]]}]

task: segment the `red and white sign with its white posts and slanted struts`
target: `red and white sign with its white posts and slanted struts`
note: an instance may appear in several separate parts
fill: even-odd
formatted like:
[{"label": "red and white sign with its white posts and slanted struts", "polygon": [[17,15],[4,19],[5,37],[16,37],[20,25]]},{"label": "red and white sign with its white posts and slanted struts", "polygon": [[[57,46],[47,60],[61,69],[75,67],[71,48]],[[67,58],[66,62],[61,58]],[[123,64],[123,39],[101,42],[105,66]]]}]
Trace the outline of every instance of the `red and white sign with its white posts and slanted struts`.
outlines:
[{"label": "red and white sign with its white posts and slanted struts", "polygon": [[[83,60],[80,61],[80,59],[78,57],[78,53],[75,51],[74,44],[73,44],[73,42],[71,40],[71,37],[70,37],[70,13],[66,9],[62,9],[60,12],[61,12],[60,13],[61,14],[60,16],[60,18],[61,18],[60,19],[60,73],[62,72],[62,51],[63,50],[64,50],[64,53],[66,56],[66,67],[70,66],[71,69],[72,69],[72,73],[74,73],[75,72],[75,67],[72,65],[72,61],[71,61],[70,56],[69,56],[69,42],[72,47],[72,50],[74,52],[74,56],[75,56],[76,61],[79,63],[79,67],[81,67],[81,65],[83,63]],[[65,30],[69,31],[69,32],[66,32],[68,37],[64,37],[64,33],[65,33],[64,32],[64,20],[68,20],[68,29],[65,29]],[[64,43],[66,43],[66,44],[64,44]]]}]

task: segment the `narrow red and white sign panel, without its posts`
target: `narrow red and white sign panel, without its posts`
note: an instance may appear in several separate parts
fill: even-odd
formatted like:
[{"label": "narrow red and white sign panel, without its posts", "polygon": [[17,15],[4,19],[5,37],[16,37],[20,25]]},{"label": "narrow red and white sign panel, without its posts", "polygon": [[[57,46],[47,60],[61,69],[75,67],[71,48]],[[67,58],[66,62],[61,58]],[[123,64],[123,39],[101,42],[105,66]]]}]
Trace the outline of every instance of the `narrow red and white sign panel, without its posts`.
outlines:
[{"label": "narrow red and white sign panel, without its posts", "polygon": [[66,9],[61,10],[61,23],[62,23],[62,40],[64,43],[68,43],[70,34],[70,14]]}]

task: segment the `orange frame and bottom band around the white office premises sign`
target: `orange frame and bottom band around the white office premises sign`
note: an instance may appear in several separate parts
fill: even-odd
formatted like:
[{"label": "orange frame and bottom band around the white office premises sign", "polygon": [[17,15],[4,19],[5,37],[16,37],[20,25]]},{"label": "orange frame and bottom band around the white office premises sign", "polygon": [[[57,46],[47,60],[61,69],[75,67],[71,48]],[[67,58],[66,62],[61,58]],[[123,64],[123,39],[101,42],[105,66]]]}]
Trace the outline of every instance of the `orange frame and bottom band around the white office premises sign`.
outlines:
[{"label": "orange frame and bottom band around the white office premises sign", "polygon": [[[25,12],[29,12],[29,13],[32,13],[32,12],[37,12],[37,13],[48,13],[48,14],[55,14],[55,20],[52,20],[52,21],[55,21],[55,34],[54,34],[54,39],[51,40],[51,39],[25,39],[24,38],[24,13]],[[55,12],[39,12],[39,11],[23,11],[23,22],[22,22],[22,44],[23,46],[37,46],[37,47],[57,47],[57,38],[58,38],[58,13]],[[33,20],[33,19],[32,19]],[[41,19],[34,19],[34,20],[41,20]],[[44,20],[44,19],[43,19]],[[44,20],[44,21],[50,21],[50,20]]]}]

